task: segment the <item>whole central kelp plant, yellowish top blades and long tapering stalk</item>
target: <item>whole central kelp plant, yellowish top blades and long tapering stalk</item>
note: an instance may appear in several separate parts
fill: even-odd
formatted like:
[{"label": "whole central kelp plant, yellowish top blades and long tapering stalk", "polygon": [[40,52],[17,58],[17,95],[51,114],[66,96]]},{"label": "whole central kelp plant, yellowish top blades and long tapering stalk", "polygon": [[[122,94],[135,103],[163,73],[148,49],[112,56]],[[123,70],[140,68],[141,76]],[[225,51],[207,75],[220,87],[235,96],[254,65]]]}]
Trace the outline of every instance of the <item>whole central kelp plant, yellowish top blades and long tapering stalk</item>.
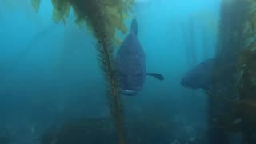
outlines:
[{"label": "whole central kelp plant, yellowish top blades and long tapering stalk", "polygon": [[[39,10],[41,0],[31,0],[35,11]],[[122,102],[118,84],[118,75],[114,68],[114,39],[116,30],[126,33],[126,20],[128,14],[133,12],[134,0],[52,0],[54,7],[52,20],[66,23],[66,18],[72,8],[76,16],[75,23],[82,26],[86,23],[90,32],[97,39],[98,59],[102,71],[110,85],[108,98],[110,111],[113,114],[118,129],[119,143],[124,142],[122,128]]]}]

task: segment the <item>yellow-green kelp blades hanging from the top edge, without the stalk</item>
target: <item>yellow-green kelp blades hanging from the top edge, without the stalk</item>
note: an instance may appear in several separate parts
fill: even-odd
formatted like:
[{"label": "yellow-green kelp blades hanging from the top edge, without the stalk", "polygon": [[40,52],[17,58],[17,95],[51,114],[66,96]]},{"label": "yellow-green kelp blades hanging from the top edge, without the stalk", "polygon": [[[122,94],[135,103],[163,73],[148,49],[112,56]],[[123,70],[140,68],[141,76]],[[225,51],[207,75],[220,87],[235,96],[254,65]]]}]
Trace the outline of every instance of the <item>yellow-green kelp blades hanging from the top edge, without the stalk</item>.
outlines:
[{"label": "yellow-green kelp blades hanging from the top edge, without the stalk", "polygon": [[[41,0],[31,0],[34,10],[38,11]],[[52,19],[54,22],[66,23],[71,8],[76,16],[75,22],[82,26],[85,22],[90,30],[95,33],[95,22],[99,15],[104,15],[104,25],[111,35],[116,29],[126,33],[127,27],[124,23],[130,12],[133,12],[135,0],[52,0],[54,10]],[[98,11],[99,10],[99,11]],[[100,13],[99,13],[100,12]],[[102,26],[102,23],[100,23]]]}]

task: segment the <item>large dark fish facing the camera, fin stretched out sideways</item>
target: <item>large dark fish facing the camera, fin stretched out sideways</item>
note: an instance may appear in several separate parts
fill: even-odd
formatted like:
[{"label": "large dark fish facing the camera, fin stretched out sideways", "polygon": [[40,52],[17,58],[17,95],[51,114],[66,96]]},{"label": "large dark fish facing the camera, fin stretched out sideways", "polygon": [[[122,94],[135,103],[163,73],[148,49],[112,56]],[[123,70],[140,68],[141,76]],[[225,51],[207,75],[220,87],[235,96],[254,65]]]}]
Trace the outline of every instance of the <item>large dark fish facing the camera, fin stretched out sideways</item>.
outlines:
[{"label": "large dark fish facing the camera, fin stretched out sideways", "polygon": [[121,79],[121,90],[124,95],[136,95],[144,85],[146,75],[163,80],[162,74],[146,73],[145,53],[137,38],[138,24],[133,19],[130,33],[122,42],[115,62]]}]

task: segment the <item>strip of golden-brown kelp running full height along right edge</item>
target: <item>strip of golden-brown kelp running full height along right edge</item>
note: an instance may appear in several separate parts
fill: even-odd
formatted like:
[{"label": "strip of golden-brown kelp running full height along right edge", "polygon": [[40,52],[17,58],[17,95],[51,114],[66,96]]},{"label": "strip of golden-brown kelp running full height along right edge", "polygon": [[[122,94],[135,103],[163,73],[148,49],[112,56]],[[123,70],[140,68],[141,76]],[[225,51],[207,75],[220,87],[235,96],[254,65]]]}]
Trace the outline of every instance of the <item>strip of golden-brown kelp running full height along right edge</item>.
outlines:
[{"label": "strip of golden-brown kelp running full height along right edge", "polygon": [[245,48],[238,54],[238,114],[242,118],[240,126],[240,131],[243,134],[242,144],[256,142],[256,2],[252,0],[247,2],[249,14],[243,34]]}]

